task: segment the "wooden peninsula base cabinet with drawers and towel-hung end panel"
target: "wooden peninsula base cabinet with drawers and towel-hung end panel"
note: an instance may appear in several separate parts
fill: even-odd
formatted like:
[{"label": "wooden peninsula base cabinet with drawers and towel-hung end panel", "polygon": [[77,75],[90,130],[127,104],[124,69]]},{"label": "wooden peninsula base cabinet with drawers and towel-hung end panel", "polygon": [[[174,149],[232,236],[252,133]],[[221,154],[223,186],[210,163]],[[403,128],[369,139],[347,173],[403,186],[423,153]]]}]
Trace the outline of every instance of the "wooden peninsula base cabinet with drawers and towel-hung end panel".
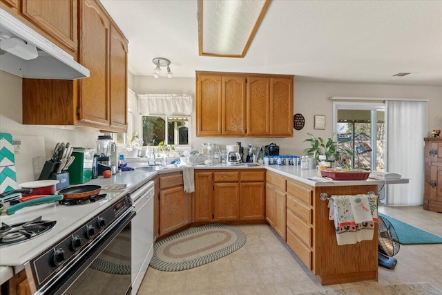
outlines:
[{"label": "wooden peninsula base cabinet with drawers and towel-hung end panel", "polygon": [[[267,171],[266,220],[280,236],[283,233],[278,222],[286,222],[287,245],[322,285],[377,280],[377,225],[373,240],[338,246],[334,222],[328,218],[328,202],[320,200],[320,193],[332,196],[366,194],[368,191],[376,192],[377,186],[311,187]],[[285,217],[280,213],[283,200]]]}]

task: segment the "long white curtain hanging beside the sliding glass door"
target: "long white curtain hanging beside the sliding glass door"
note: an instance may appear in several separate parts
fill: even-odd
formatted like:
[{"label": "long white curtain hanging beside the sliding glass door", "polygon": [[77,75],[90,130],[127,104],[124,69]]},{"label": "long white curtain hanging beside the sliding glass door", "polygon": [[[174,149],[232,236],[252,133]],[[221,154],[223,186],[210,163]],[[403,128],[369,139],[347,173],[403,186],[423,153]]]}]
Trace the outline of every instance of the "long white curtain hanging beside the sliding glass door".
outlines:
[{"label": "long white curtain hanging beside the sliding glass door", "polygon": [[427,102],[386,102],[386,171],[410,178],[408,184],[387,185],[387,205],[423,204],[423,137],[427,133]]}]

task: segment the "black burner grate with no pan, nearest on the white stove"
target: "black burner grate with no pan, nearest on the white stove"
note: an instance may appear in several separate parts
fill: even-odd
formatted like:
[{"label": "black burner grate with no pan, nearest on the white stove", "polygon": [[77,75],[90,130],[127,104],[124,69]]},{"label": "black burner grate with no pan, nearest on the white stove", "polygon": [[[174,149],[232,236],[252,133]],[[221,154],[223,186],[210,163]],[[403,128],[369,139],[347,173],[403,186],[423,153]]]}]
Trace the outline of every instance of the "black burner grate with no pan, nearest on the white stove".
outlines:
[{"label": "black burner grate with no pan, nearest on the white stove", "polygon": [[41,220],[41,216],[34,220],[7,225],[2,222],[0,227],[0,247],[24,242],[52,229],[57,221]]}]

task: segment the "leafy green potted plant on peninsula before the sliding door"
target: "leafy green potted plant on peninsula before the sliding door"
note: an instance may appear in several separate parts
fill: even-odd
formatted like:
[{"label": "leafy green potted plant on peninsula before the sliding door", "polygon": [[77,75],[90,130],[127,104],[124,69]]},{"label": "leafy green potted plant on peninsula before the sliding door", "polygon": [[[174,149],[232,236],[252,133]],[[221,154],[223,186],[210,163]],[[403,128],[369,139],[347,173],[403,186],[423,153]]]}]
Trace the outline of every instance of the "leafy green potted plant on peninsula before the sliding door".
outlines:
[{"label": "leafy green potted plant on peninsula before the sliding door", "polygon": [[[307,135],[309,135],[309,138],[304,141],[310,142],[311,146],[302,152],[305,153],[305,155],[313,155],[316,160],[334,161],[338,158],[338,153],[353,155],[351,150],[338,146],[338,142],[333,141],[333,136],[325,140],[323,137],[316,137],[312,133],[307,133]],[[349,140],[343,140],[342,142],[347,141]]]}]

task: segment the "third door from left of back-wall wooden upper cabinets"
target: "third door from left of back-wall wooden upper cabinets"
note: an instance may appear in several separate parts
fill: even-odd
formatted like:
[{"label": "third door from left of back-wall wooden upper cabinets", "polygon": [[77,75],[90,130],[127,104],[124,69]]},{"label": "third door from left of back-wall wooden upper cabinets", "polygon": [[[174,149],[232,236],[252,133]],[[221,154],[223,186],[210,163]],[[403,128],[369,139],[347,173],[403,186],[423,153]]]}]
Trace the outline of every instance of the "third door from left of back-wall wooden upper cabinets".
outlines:
[{"label": "third door from left of back-wall wooden upper cabinets", "polygon": [[247,135],[269,135],[270,79],[249,77],[247,82]]}]

